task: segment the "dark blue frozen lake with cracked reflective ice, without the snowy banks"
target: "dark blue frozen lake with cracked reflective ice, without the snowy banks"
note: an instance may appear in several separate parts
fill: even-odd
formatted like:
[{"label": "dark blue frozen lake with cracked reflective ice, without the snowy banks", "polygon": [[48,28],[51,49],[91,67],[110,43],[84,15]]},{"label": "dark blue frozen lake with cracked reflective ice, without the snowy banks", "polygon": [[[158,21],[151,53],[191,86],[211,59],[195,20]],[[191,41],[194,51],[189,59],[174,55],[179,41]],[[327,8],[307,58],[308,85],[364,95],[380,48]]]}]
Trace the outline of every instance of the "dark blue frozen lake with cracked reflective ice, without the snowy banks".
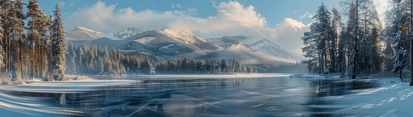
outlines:
[{"label": "dark blue frozen lake with cracked reflective ice, without the snowy banks", "polygon": [[339,105],[344,102],[325,97],[379,86],[365,80],[296,79],[285,75],[204,77],[100,76],[92,78],[139,81],[75,93],[1,92],[8,97],[36,98],[37,103],[48,105],[48,108],[71,110],[56,114],[72,116],[351,116],[336,112],[342,109]]}]

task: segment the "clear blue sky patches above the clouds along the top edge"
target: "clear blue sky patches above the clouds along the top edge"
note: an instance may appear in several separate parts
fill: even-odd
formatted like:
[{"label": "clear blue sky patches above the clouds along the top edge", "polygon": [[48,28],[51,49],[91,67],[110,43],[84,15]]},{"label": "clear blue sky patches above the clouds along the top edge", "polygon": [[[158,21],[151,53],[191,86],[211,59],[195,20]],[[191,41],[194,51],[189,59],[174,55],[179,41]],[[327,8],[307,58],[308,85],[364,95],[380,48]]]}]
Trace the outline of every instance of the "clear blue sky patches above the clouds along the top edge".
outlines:
[{"label": "clear blue sky patches above the clouds along the top edge", "polygon": [[[98,0],[57,0],[62,6],[64,17],[83,8],[92,6]],[[131,7],[135,11],[152,9],[156,12],[183,10],[187,8],[197,9],[194,17],[207,18],[216,13],[213,2],[227,2],[229,0],[101,0],[106,4],[116,4],[116,8]],[[331,9],[333,6],[339,8],[340,0],[236,0],[244,5],[253,5],[268,21],[268,25],[273,26],[284,18],[294,18],[308,23],[311,19],[300,19],[306,12],[314,14],[321,2]],[[40,7],[47,13],[54,10],[56,2],[50,0],[39,0]],[[178,7],[178,4],[180,7]],[[172,7],[175,6],[175,7]]]}]

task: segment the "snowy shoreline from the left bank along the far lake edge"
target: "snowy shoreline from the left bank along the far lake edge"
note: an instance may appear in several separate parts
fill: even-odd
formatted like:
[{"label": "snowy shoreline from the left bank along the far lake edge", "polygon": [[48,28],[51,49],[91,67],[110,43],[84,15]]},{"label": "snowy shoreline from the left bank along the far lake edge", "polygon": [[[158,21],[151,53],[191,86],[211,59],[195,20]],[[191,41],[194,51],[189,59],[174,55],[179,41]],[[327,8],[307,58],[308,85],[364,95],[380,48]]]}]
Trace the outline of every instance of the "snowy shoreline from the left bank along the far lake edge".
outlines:
[{"label": "snowy shoreline from the left bank along the far lake edge", "polygon": [[[272,77],[288,77],[286,74],[250,74],[250,75],[136,75],[136,77],[152,78],[272,78]],[[90,76],[102,77],[102,76]],[[105,77],[105,76],[103,76]],[[112,77],[112,76],[107,76]],[[129,77],[134,77],[131,75]],[[30,84],[4,84],[0,85],[0,90],[4,91],[21,91],[21,92],[41,92],[41,93],[80,93],[85,91],[98,90],[95,87],[113,86],[138,82],[139,80],[129,79],[82,79],[82,80],[67,80],[67,81],[39,81],[34,80]]]}]

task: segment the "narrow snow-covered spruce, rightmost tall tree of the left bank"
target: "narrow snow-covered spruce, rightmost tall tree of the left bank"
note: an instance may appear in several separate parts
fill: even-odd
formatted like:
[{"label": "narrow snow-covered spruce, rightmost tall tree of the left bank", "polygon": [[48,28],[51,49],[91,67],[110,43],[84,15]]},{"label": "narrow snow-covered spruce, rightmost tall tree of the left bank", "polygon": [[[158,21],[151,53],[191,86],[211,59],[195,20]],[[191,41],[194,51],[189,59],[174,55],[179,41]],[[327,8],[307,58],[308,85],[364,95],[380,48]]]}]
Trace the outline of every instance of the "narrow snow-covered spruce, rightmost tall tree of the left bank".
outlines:
[{"label": "narrow snow-covered spruce, rightmost tall tree of the left bank", "polygon": [[61,19],[60,7],[56,3],[55,21],[52,25],[52,78],[55,80],[67,80],[64,79],[64,73],[66,71],[66,43],[65,32],[63,27],[63,20]]}]

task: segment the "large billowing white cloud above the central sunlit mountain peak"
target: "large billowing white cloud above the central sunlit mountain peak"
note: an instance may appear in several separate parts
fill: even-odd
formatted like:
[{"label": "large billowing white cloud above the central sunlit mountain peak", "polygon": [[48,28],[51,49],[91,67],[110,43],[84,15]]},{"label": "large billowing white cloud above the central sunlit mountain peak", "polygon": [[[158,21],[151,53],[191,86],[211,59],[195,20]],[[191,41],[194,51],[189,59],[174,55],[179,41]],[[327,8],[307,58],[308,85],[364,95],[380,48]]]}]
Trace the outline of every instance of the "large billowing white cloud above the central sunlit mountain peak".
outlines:
[{"label": "large billowing white cloud above the central sunlit mountain peak", "polygon": [[225,35],[245,35],[268,38],[273,29],[268,28],[266,20],[255,11],[253,6],[245,7],[236,1],[214,4],[217,14],[206,19],[182,17],[171,22],[168,26],[191,31],[198,31],[207,37]]}]

